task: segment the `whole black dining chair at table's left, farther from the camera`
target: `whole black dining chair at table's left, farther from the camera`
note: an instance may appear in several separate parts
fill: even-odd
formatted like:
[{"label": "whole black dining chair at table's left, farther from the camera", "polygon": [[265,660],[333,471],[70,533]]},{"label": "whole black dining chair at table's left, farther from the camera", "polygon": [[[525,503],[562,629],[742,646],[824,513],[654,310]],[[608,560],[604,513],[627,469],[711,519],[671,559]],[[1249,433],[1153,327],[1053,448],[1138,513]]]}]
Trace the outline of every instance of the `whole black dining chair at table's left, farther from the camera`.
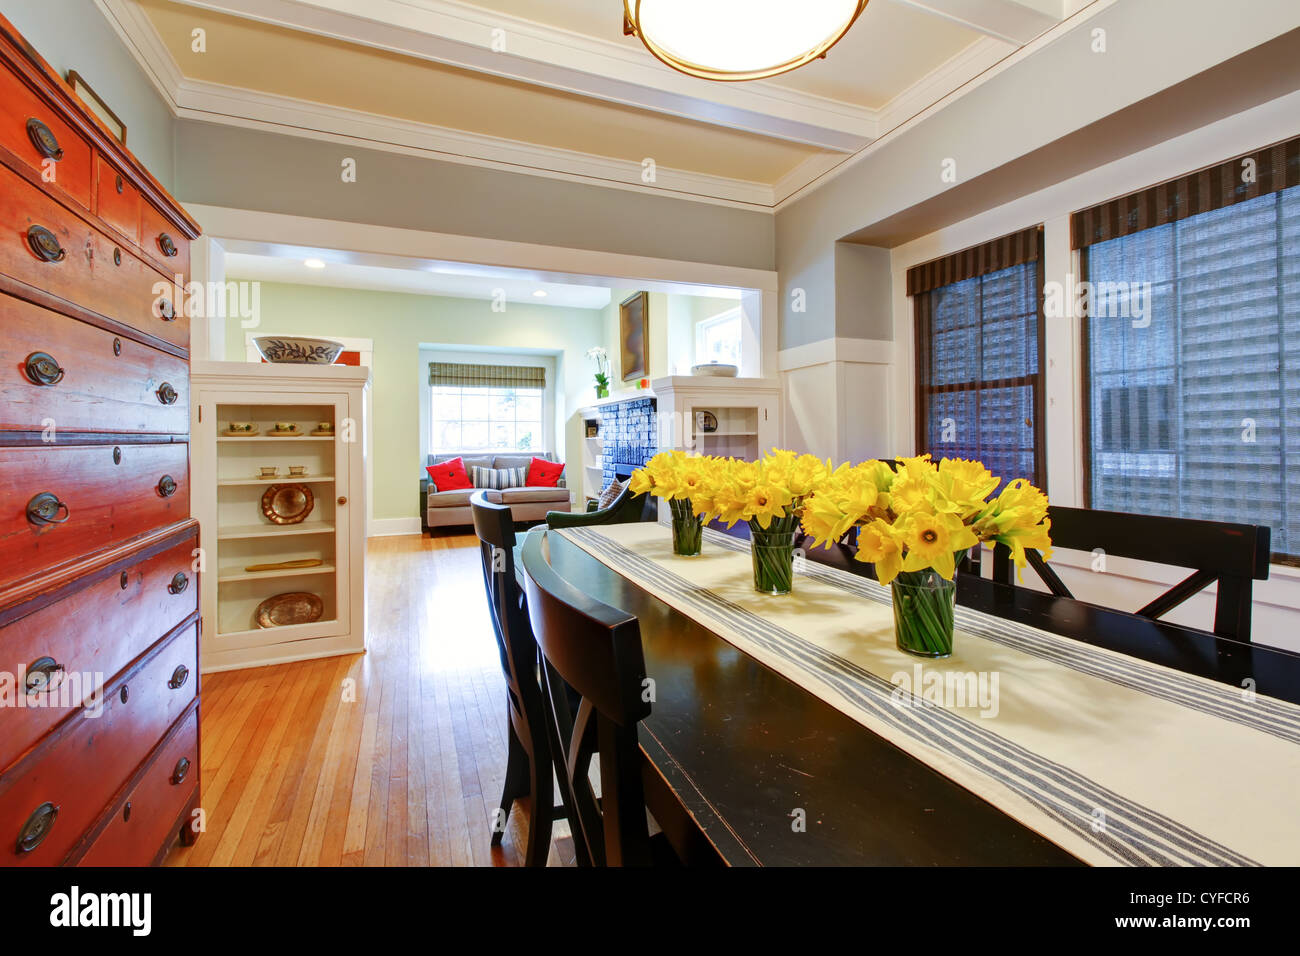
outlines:
[{"label": "whole black dining chair at table's left, farther from the camera", "polygon": [[[506,678],[506,783],[500,813],[494,821],[493,845],[506,831],[506,821],[516,800],[528,797],[526,866],[545,866],[550,855],[551,827],[568,816],[562,800],[555,806],[554,761],[546,721],[546,705],[538,675],[537,641],[524,609],[524,593],[515,574],[515,522],[507,505],[488,501],[484,492],[469,498],[482,559],[484,588],[491,607],[493,633]],[[563,777],[562,777],[563,787]],[[572,821],[571,821],[572,823]],[[576,827],[575,827],[576,829]],[[575,849],[584,848],[575,835]]]}]

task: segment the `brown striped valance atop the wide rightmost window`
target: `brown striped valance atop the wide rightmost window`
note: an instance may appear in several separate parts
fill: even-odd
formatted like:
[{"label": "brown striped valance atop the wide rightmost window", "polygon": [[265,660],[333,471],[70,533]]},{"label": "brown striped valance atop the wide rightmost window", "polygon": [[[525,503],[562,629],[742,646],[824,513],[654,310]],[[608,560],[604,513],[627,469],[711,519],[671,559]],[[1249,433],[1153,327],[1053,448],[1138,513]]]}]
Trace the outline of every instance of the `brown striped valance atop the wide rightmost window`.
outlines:
[{"label": "brown striped valance atop the wide rightmost window", "polygon": [[1300,186],[1300,138],[1080,209],[1070,217],[1070,242],[1084,248],[1291,186]]}]

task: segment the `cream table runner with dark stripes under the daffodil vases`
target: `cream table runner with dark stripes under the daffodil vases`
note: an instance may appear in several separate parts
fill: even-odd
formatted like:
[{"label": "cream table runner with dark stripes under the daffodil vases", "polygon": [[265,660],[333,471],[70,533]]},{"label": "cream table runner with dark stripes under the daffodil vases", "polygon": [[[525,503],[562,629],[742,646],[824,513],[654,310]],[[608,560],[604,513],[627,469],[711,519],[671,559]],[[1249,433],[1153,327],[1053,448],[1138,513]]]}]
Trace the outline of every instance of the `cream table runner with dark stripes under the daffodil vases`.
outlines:
[{"label": "cream table runner with dark stripes under the daffodil vases", "polygon": [[715,531],[697,558],[659,524],[558,533],[1080,860],[1300,864],[1292,704],[963,607],[953,657],[922,662],[866,578],[800,562],[771,597]]}]

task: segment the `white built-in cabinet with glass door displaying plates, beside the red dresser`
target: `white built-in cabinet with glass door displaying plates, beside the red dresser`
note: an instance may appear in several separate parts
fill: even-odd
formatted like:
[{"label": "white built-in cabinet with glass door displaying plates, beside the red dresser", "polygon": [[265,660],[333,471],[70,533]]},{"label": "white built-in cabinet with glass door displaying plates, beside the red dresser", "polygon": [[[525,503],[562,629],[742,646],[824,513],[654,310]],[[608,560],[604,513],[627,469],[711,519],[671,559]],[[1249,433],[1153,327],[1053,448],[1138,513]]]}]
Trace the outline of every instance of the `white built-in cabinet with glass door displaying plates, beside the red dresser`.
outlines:
[{"label": "white built-in cabinet with glass door displaying plates, beside the red dresser", "polygon": [[[196,362],[191,376],[191,488],[202,525],[204,671],[233,670],[365,650],[365,398],[369,369]],[[251,421],[257,434],[230,434]],[[294,423],[302,434],[276,434]],[[320,423],[333,436],[312,434]],[[290,477],[302,467],[304,475]],[[278,476],[260,477],[263,467]],[[263,514],[272,484],[303,484],[312,510],[298,524]],[[295,561],[307,568],[248,571]],[[313,623],[259,627],[256,609],[307,592],[324,610]]]}]

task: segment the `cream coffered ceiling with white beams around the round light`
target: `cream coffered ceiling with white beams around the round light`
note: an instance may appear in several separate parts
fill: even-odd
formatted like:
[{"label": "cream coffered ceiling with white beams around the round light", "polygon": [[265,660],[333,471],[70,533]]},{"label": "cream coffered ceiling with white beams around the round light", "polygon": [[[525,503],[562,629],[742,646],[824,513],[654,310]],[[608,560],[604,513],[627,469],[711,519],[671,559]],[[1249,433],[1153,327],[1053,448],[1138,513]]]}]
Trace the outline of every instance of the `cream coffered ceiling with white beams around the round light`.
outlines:
[{"label": "cream coffered ceiling with white beams around the round light", "polygon": [[96,3],[185,118],[749,208],[1088,5],[871,0],[824,60],[715,83],[624,36],[621,0]]}]

